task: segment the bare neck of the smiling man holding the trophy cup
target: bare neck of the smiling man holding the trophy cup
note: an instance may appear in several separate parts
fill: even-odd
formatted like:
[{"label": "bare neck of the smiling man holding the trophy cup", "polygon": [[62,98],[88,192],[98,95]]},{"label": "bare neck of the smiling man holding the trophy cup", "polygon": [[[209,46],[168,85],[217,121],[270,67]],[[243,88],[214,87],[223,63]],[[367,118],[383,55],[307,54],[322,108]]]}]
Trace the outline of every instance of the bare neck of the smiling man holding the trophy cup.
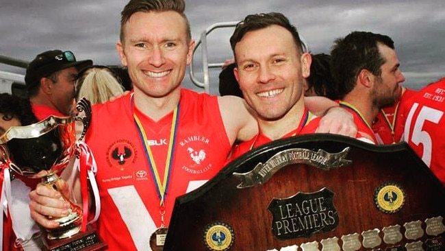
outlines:
[{"label": "bare neck of the smiling man holding the trophy cup", "polygon": [[153,121],[159,121],[162,117],[172,112],[179,104],[180,98],[180,88],[165,97],[149,97],[142,91],[134,89],[134,106],[144,115],[153,119]]}]

